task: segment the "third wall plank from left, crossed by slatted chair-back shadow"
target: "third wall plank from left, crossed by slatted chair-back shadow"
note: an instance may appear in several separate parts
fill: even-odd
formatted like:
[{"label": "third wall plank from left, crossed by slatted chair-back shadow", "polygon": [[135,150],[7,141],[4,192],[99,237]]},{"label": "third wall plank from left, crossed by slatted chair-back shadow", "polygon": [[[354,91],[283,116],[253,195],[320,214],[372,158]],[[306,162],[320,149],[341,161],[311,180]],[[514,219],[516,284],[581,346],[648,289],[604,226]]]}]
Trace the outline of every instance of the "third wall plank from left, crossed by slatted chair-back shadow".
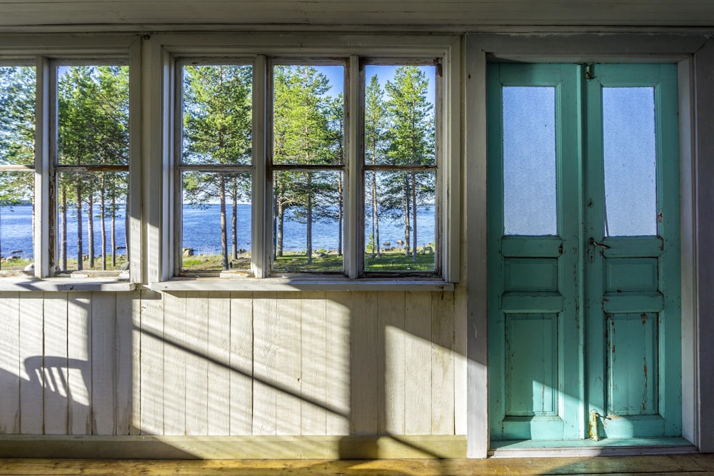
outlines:
[{"label": "third wall plank from left, crossed by slatted chair-back shadow", "polygon": [[67,293],[44,295],[44,430],[67,434]]}]

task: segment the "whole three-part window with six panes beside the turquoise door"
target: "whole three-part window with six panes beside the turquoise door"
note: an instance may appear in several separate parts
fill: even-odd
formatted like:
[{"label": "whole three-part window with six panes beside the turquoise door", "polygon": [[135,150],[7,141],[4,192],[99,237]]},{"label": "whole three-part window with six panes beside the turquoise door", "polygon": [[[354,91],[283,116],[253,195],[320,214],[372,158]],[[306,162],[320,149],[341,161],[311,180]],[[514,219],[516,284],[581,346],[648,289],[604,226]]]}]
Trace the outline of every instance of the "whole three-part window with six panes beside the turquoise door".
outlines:
[{"label": "whole three-part window with six panes beside the turquoise door", "polygon": [[174,274],[441,278],[442,61],[177,55]]}]

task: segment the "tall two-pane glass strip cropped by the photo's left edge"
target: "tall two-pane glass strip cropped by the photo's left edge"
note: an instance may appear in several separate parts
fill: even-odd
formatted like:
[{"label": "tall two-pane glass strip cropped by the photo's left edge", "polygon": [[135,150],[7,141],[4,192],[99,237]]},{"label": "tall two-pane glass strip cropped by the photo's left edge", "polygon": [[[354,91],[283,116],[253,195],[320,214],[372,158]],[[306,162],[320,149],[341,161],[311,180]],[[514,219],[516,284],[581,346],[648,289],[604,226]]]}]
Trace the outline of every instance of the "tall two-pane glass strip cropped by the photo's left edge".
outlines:
[{"label": "tall two-pane glass strip cropped by the photo's left edge", "polygon": [[34,67],[0,66],[2,271],[25,270],[33,261],[35,83]]}]

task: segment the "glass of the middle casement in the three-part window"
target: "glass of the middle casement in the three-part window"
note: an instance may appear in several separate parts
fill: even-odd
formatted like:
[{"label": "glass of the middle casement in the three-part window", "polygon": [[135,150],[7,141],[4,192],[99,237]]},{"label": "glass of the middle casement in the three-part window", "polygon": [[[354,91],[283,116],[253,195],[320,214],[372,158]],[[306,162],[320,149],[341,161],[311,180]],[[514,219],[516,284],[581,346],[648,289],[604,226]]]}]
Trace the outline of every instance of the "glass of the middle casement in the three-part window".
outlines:
[{"label": "glass of the middle casement in the three-part window", "polygon": [[273,270],[343,271],[344,66],[273,66]]}]

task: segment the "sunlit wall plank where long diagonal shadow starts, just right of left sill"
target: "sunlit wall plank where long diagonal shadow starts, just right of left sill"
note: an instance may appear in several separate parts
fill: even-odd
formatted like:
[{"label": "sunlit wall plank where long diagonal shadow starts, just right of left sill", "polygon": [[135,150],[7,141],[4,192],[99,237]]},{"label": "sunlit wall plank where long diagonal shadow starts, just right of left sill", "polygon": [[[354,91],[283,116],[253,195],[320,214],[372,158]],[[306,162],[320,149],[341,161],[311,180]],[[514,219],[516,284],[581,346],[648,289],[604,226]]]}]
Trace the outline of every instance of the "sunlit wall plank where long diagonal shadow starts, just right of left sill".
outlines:
[{"label": "sunlit wall plank where long diagonal shadow starts, just right of left sill", "polygon": [[164,294],[141,292],[140,427],[142,435],[164,434]]}]

